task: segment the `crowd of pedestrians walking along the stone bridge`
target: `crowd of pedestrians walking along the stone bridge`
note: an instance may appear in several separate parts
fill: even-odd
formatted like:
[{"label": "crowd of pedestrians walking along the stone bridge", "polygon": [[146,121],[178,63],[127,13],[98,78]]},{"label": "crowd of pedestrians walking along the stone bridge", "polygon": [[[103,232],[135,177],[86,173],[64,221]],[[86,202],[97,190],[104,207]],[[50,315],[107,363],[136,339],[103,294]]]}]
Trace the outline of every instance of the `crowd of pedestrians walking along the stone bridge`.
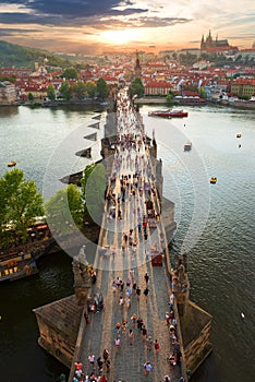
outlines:
[{"label": "crowd of pedestrians walking along the stone bridge", "polygon": [[[134,307],[139,307],[139,300],[145,301],[150,296],[150,277],[148,273],[144,274],[143,279],[137,278],[134,267],[137,248],[139,243],[147,240],[151,244],[150,228],[160,220],[160,206],[156,188],[155,166],[151,162],[149,144],[147,143],[144,128],[138,121],[138,117],[133,112],[132,102],[126,95],[119,94],[118,99],[118,123],[117,123],[117,143],[116,154],[112,164],[112,172],[109,179],[107,198],[107,219],[109,222],[120,220],[121,246],[120,253],[122,256],[131,256],[131,265],[127,277],[123,279],[116,276],[110,282],[112,288],[114,303],[119,306],[121,320],[114,323],[114,333],[112,335],[112,344],[114,354],[121,354],[122,344],[125,343],[130,347],[136,344],[143,344],[147,350],[148,359],[144,361],[144,374],[149,375],[154,370],[149,355],[160,357],[160,343],[155,335],[146,327],[146,318],[142,318],[139,310],[137,313]],[[125,222],[125,226],[121,226],[121,220]],[[109,247],[109,246],[108,246]],[[145,248],[145,247],[144,247]],[[153,247],[144,250],[144,260],[149,261],[151,251],[163,252],[165,238],[162,232],[159,235],[158,241]],[[104,249],[101,253],[109,254],[114,261],[119,255],[118,246],[112,246],[110,251]],[[134,263],[132,263],[134,262]],[[139,280],[141,286],[137,280]],[[135,299],[136,303],[133,303]],[[97,306],[94,301],[93,306]],[[170,295],[169,310],[166,312],[166,333],[169,335],[169,374],[177,366],[181,365],[182,354],[177,331],[177,319],[174,317],[174,295]],[[109,344],[108,344],[109,345]],[[109,345],[110,346],[110,345]],[[113,358],[112,358],[113,359]],[[106,382],[109,380],[111,367],[110,354],[107,349],[99,357],[94,354],[88,356],[88,365],[83,367],[81,362],[76,362],[73,382]],[[86,370],[86,372],[85,372]],[[162,375],[161,381],[173,382],[169,374]],[[138,378],[138,377],[137,377]],[[138,379],[137,379],[138,380]],[[112,380],[111,380],[112,381]],[[121,382],[121,381],[116,381]],[[177,380],[174,380],[177,382]],[[184,382],[182,377],[180,381]]]}]

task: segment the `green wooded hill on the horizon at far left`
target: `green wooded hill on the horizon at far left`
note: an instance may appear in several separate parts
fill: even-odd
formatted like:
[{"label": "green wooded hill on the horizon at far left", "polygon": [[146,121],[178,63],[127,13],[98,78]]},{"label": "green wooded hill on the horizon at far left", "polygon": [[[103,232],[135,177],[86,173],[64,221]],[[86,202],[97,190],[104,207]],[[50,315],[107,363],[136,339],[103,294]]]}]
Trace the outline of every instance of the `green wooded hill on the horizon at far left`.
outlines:
[{"label": "green wooded hill on the horizon at far left", "polygon": [[35,62],[42,64],[47,57],[47,65],[51,67],[70,67],[70,61],[65,58],[54,56],[44,50],[22,47],[0,40],[0,67],[14,67],[35,69]]}]

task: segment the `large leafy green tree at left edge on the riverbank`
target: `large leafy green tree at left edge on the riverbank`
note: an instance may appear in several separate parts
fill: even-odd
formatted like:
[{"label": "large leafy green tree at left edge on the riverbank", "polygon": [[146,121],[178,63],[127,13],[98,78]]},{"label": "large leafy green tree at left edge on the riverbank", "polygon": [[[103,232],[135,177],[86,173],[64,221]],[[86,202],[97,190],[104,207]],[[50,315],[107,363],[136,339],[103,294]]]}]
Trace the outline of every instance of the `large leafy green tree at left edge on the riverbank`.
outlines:
[{"label": "large leafy green tree at left edge on the riverbank", "polygon": [[42,198],[33,180],[25,180],[20,169],[7,171],[0,179],[1,237],[19,237],[25,241],[27,228],[44,215]]}]

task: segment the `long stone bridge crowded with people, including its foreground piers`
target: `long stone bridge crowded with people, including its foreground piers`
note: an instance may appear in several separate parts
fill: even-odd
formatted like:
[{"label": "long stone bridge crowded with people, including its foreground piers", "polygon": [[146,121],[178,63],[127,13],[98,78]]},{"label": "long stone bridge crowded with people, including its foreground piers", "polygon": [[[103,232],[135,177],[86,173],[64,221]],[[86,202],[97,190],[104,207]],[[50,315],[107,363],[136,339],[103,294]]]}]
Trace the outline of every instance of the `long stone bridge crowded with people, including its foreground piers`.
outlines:
[{"label": "long stone bridge crowded with people, including its foreground piers", "polygon": [[96,283],[87,277],[85,248],[73,261],[76,305],[72,297],[35,309],[39,344],[70,368],[69,382],[93,373],[112,382],[166,375],[187,381],[211,351],[211,317],[190,301],[186,254],[170,263],[174,204],[162,196],[157,143],[146,136],[127,89],[118,93],[107,121],[101,155],[108,187],[92,264]]}]

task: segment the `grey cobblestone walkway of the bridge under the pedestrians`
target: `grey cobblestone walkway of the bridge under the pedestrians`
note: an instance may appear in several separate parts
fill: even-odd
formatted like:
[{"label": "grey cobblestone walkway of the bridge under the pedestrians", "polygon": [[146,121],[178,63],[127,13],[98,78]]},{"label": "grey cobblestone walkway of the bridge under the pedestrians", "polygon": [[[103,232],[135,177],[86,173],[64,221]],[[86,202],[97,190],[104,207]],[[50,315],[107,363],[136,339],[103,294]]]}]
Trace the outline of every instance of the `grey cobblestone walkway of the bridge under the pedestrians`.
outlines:
[{"label": "grey cobblestone walkway of the bridge under the pedestrians", "polygon": [[[124,121],[124,117],[121,118],[121,121]],[[130,134],[137,133],[137,122],[135,123],[134,116],[129,115],[127,122],[123,123],[125,123],[125,128],[126,126],[132,127],[132,130],[129,130]],[[121,123],[120,128],[122,129]],[[165,251],[167,244],[165,229],[161,226],[160,216],[157,216],[160,212],[157,193],[150,193],[151,189],[156,189],[151,176],[154,167],[148,155],[148,147],[144,142],[139,145],[138,151],[137,146],[134,148],[123,150],[117,156],[117,160],[113,162],[114,181],[111,182],[111,193],[116,195],[116,200],[114,203],[109,201],[106,204],[102,223],[105,229],[100,236],[99,249],[94,264],[97,268],[97,282],[92,293],[93,296],[102,294],[105,309],[97,313],[89,313],[90,322],[86,327],[81,361],[85,372],[90,373],[93,368],[88,362],[89,354],[94,354],[97,359],[99,356],[102,357],[102,351],[107,348],[110,353],[111,367],[107,373],[106,366],[104,366],[102,374],[106,373],[110,382],[160,382],[163,381],[166,374],[169,374],[171,381],[175,382],[181,377],[181,370],[180,366],[175,366],[171,370],[167,359],[172,349],[170,347],[169,327],[165,320],[165,313],[169,310],[171,285],[165,260],[161,266],[154,266],[151,261],[154,253],[160,255],[168,253],[168,251]],[[135,158],[137,166],[135,166]],[[135,195],[133,195],[129,186],[125,196],[118,202],[121,177],[133,174],[137,167],[141,170],[141,177]],[[142,186],[141,192],[138,192],[139,186]],[[147,238],[145,238],[143,227],[141,230],[137,228],[137,222],[139,214],[141,216],[148,215],[146,211],[148,199],[153,202],[154,214],[151,219],[147,219]],[[113,218],[109,216],[109,211],[112,207],[116,208]],[[121,218],[118,218],[117,210],[121,211]],[[129,235],[130,229],[133,230],[132,246],[129,241],[126,244],[123,241],[123,234]],[[100,248],[104,249],[104,252],[100,252]],[[162,254],[162,259],[163,256],[165,254]],[[123,296],[124,300],[126,298],[126,286],[124,286],[123,291],[113,290],[112,282],[120,277],[125,284],[126,278],[131,278],[131,270],[133,270],[134,279],[141,288],[141,298],[138,300],[136,294],[132,290],[131,306],[127,307],[125,303],[120,306],[120,296]],[[143,294],[146,288],[144,278],[146,272],[149,276],[147,301]],[[151,349],[147,347],[147,342],[142,338],[141,330],[136,325],[133,326],[131,320],[133,313],[143,319],[148,336],[151,336],[153,341],[157,339],[159,342],[160,349],[157,354],[154,346]],[[121,331],[119,335],[120,347],[116,348],[114,338],[118,336],[116,324],[121,323],[122,319],[126,320],[127,325],[125,331]],[[132,344],[129,338],[130,329],[134,333]],[[149,361],[153,367],[147,375],[144,374],[144,363],[146,361]],[[95,372],[98,373],[97,367]]]}]

